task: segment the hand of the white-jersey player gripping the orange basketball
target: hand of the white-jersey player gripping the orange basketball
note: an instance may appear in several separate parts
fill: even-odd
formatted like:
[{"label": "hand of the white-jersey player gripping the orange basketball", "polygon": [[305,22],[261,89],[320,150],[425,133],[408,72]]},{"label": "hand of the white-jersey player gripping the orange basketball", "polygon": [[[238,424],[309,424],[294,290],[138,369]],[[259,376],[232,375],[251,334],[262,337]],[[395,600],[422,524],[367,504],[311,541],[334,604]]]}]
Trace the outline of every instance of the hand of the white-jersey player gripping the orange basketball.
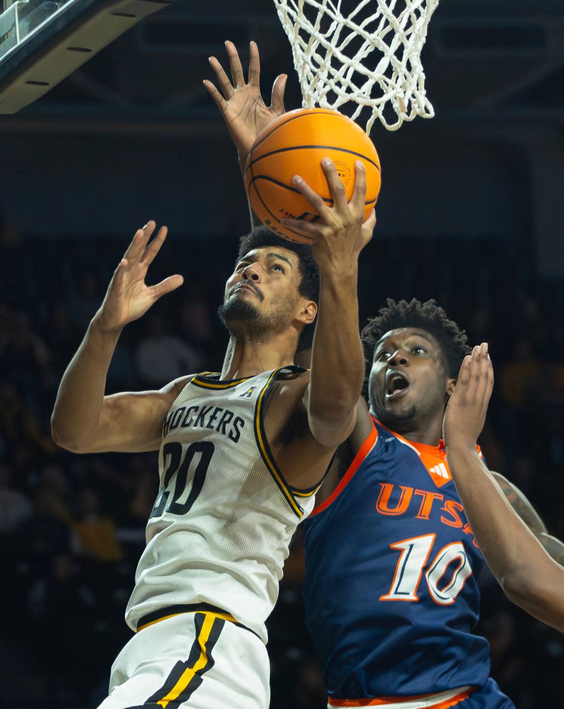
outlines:
[{"label": "hand of the white-jersey player gripping the orange basketball", "polygon": [[376,213],[372,210],[368,219],[363,221],[366,170],[362,162],[357,161],[355,165],[354,191],[350,202],[346,201],[344,184],[332,160],[325,157],[321,164],[334,206],[327,206],[320,195],[299,175],[295,175],[293,185],[308,199],[320,219],[316,222],[281,219],[281,223],[312,236],[312,255],[322,271],[332,269],[344,274],[347,269],[358,266],[359,254],[372,238]]}]

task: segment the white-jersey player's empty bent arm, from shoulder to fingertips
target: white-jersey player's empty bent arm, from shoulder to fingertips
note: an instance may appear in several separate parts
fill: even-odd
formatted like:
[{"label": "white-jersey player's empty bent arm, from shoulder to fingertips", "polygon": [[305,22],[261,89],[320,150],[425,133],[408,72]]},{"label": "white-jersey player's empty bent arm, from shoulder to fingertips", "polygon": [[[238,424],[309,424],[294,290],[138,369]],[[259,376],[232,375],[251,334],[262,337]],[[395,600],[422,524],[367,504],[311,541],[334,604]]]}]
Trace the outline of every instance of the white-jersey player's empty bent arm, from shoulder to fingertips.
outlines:
[{"label": "white-jersey player's empty bent arm, from shoulder to fingertips", "polygon": [[157,450],[164,417],[188,379],[173,381],[159,391],[104,396],[108,367],[125,325],[184,280],[176,274],[155,286],[145,284],[147,269],[167,237],[167,228],[162,227],[149,243],[154,228],[150,221],[135,233],[62,376],[51,430],[57,445],[72,452]]}]

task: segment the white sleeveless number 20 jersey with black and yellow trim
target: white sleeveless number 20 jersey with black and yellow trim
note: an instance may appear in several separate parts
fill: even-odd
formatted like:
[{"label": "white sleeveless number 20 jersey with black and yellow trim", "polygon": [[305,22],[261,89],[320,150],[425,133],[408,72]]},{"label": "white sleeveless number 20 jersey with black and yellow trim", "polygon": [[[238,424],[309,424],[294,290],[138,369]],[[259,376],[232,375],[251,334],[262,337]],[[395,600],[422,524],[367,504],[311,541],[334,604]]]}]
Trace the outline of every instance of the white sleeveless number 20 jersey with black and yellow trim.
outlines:
[{"label": "white sleeveless number 20 jersey with black and yellow trim", "polygon": [[269,387],[281,372],[300,371],[231,381],[198,374],[174,401],[147,547],[125,611],[132,630],[171,606],[208,603],[266,642],[288,545],[315,502],[315,491],[286,483],[264,433]]}]

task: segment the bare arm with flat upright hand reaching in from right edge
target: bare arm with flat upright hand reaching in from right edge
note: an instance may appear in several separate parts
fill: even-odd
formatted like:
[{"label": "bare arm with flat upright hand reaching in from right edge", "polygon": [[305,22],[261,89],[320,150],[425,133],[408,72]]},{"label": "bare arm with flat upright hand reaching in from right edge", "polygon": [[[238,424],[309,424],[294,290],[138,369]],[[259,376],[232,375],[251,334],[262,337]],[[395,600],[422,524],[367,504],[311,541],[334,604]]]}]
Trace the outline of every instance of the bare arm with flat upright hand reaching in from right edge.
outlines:
[{"label": "bare arm with flat upright hand reaching in from right edge", "polygon": [[[508,598],[564,632],[564,548],[554,559],[524,525],[476,455],[493,389],[487,343],[465,357],[443,422],[446,459],[480,551]],[[546,535],[543,535],[546,537]],[[558,540],[552,537],[558,549]]]}]

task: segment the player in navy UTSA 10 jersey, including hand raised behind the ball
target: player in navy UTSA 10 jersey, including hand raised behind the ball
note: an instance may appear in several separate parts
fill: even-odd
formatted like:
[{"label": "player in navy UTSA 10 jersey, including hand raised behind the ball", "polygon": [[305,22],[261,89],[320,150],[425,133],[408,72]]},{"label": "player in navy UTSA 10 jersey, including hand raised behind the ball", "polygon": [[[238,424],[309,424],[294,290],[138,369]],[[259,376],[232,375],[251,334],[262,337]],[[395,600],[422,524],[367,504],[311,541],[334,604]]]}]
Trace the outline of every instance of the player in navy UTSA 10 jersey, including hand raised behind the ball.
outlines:
[{"label": "player in navy UTSA 10 jersey, including hand raised behind the ball", "polygon": [[[247,83],[234,45],[226,46],[233,84],[212,57],[224,95],[210,82],[206,87],[244,164],[254,130],[283,108],[282,79],[266,108],[256,45]],[[466,335],[434,301],[388,301],[363,330],[363,342],[370,408],[359,402],[354,431],[304,523],[306,624],[325,666],[329,706],[512,708],[488,678],[487,641],[471,632],[483,557],[441,440]],[[509,481],[493,475],[559,557],[562,542],[546,534]]]}]

